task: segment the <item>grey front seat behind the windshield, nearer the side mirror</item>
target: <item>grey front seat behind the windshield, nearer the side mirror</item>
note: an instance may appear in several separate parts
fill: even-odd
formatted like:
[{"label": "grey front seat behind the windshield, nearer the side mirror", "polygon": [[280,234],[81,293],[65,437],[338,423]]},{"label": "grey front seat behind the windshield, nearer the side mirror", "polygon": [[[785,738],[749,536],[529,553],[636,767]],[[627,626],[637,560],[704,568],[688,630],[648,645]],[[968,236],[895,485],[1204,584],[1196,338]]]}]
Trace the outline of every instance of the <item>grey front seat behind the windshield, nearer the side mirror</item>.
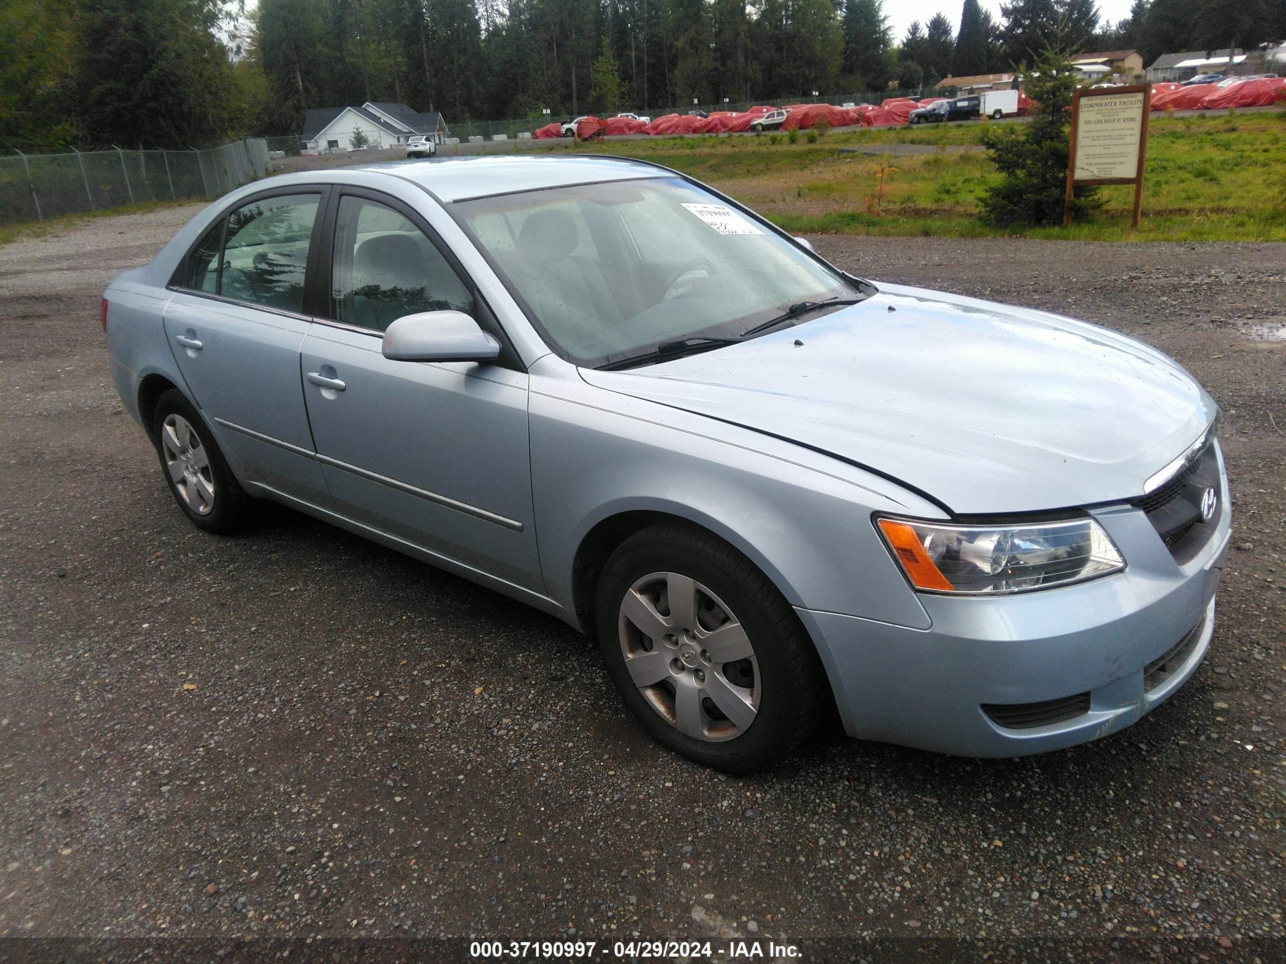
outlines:
[{"label": "grey front seat behind the windshield, nearer the side mirror", "polygon": [[527,302],[559,342],[588,347],[601,343],[603,330],[624,314],[598,262],[572,254],[577,247],[576,219],[557,208],[529,215],[518,231],[529,266],[522,285]]}]

